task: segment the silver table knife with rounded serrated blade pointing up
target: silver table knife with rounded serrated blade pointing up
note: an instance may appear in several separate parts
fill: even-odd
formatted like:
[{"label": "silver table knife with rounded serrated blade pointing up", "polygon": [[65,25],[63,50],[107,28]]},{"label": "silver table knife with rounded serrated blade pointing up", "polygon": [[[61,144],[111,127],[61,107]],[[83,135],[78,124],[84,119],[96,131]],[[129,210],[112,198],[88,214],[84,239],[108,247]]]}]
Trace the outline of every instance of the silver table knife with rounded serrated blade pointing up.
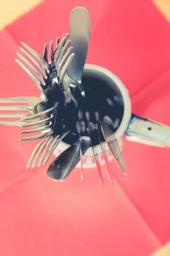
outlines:
[{"label": "silver table knife with rounded serrated blade pointing up", "polygon": [[70,84],[76,85],[82,90],[82,72],[87,57],[90,30],[90,16],[87,9],[84,7],[74,8],[70,15],[70,39],[75,56],[63,78],[63,90],[67,90]]}]

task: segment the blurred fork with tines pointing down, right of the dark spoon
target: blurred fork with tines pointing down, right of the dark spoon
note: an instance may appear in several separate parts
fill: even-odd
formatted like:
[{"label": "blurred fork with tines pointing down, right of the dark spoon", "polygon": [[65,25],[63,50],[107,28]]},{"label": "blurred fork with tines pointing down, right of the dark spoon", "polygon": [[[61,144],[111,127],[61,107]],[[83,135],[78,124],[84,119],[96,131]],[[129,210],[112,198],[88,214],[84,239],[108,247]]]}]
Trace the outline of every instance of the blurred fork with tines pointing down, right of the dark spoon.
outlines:
[{"label": "blurred fork with tines pointing down, right of the dark spoon", "polygon": [[[80,163],[81,163],[81,174],[82,174],[82,179],[83,179],[83,154],[82,154],[82,135],[84,134],[84,131],[87,131],[88,136],[90,137],[91,141],[91,147],[92,147],[92,153],[94,155],[94,160],[96,163],[97,171],[100,177],[100,182],[104,186],[104,181],[103,181],[103,175],[101,171],[101,164],[99,160],[99,155],[102,156],[104,162],[105,162],[105,167],[108,172],[109,179],[111,183],[113,183],[113,178],[112,178],[112,172],[111,168],[109,166],[109,160],[108,160],[108,155],[107,155],[107,150],[105,148],[105,144],[108,144],[109,150],[111,151],[112,155],[114,156],[114,159],[118,163],[118,166],[121,168],[121,170],[126,173],[126,168],[124,164],[124,160],[122,159],[121,156],[121,151],[120,147],[118,145],[116,135],[114,134],[114,129],[113,129],[113,122],[111,118],[109,117],[104,117],[101,118],[100,120],[100,115],[98,111],[95,111],[95,109],[88,109],[88,101],[86,98],[86,92],[83,90],[84,97],[79,93],[80,100],[78,104],[78,119],[79,119],[79,127],[83,127],[80,131],[80,129],[77,129],[79,133],[79,144],[80,144]],[[82,93],[81,93],[82,94]],[[86,110],[88,109],[88,110]],[[105,123],[105,119],[107,119],[107,123]],[[108,140],[108,129],[109,129],[109,134],[112,134],[112,137],[114,137],[113,141]],[[99,147],[97,146],[99,145]]]}]

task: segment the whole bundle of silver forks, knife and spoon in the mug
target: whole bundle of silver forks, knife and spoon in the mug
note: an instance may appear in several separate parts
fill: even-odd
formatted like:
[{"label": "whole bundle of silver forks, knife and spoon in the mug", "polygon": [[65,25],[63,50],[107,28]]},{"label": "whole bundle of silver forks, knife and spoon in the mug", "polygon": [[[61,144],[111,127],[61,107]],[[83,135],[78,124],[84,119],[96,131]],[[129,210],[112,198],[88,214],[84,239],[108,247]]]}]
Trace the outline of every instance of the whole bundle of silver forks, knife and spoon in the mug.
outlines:
[{"label": "whole bundle of silver forks, knife and spoon in the mug", "polygon": [[[11,110],[11,113],[0,112],[3,119],[0,125],[26,127],[26,130],[20,132],[25,137],[19,141],[39,140],[28,160],[27,168],[46,164],[59,142],[69,139],[71,146],[48,167],[48,176],[53,180],[64,180],[79,160],[83,179],[83,155],[92,147],[100,181],[104,184],[99,153],[103,156],[109,178],[113,182],[105,149],[106,142],[125,174],[126,169],[116,136],[112,142],[108,140],[109,135],[114,134],[112,119],[100,117],[99,111],[88,108],[82,72],[89,40],[88,11],[83,7],[76,7],[71,12],[70,35],[63,35],[61,41],[57,38],[55,49],[53,41],[50,42],[49,60],[47,44],[41,57],[21,42],[21,53],[16,53],[16,62],[35,82],[45,100],[39,97],[0,99],[0,104],[9,104],[0,106],[1,112]],[[100,152],[97,150],[99,147]]]}]

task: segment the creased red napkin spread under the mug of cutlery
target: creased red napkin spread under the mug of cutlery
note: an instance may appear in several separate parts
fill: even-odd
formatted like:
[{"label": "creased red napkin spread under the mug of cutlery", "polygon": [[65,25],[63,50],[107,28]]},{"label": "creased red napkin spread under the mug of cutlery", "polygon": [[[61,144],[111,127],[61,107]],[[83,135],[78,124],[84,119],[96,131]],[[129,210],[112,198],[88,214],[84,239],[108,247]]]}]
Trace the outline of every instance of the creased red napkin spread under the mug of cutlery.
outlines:
[{"label": "creased red napkin spread under the mug of cutlery", "polygon": [[[39,96],[14,62],[20,40],[42,54],[44,43],[69,30],[70,11],[87,7],[87,63],[108,68],[129,89],[133,112],[170,125],[169,24],[148,0],[46,0],[0,33],[0,97]],[[125,177],[111,163],[114,185],[96,169],[85,181],[75,168],[55,183],[46,167],[24,170],[32,142],[18,127],[1,127],[0,254],[12,256],[148,256],[170,238],[169,149],[125,142]]]}]

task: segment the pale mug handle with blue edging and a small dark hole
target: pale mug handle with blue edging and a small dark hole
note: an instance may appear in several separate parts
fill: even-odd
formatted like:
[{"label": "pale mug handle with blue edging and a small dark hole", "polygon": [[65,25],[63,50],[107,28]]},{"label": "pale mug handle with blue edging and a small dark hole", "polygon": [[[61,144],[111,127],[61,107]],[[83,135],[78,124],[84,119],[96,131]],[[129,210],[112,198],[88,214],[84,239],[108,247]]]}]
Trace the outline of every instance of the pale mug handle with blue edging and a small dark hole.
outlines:
[{"label": "pale mug handle with blue edging and a small dark hole", "polygon": [[158,147],[170,147],[170,127],[149,119],[131,114],[125,138]]}]

